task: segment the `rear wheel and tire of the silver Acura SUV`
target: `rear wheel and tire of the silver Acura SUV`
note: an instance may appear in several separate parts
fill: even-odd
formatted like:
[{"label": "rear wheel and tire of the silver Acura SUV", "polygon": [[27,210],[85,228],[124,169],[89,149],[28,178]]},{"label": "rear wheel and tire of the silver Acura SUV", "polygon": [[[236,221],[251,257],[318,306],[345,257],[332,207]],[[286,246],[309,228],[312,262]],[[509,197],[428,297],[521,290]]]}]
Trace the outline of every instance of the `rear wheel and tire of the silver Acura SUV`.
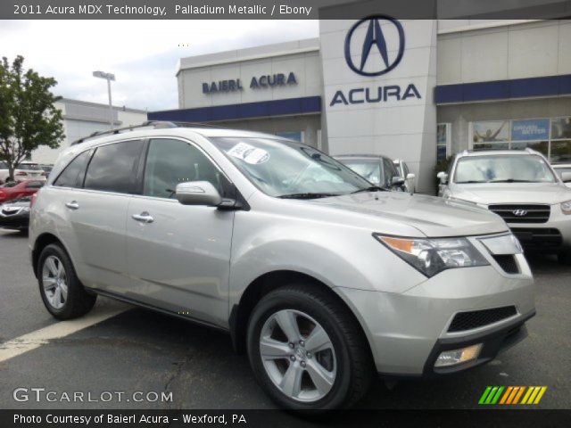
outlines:
[{"label": "rear wheel and tire of the silver Acura SUV", "polygon": [[93,308],[97,299],[95,294],[86,292],[70,256],[55,243],[47,245],[39,256],[37,284],[46,309],[57,319],[81,317]]}]

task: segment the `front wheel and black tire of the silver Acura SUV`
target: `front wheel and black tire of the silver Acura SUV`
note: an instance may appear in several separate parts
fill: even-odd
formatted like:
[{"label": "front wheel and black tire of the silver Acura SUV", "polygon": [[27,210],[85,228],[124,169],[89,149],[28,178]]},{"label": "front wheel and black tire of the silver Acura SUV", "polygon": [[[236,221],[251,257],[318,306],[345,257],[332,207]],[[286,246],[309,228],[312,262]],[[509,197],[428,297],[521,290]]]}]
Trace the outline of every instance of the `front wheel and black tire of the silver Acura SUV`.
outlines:
[{"label": "front wheel and black tire of the silver Acura SUV", "polygon": [[[292,330],[288,320],[297,328]],[[316,348],[327,342],[323,333],[329,342]],[[303,342],[294,343],[297,337]],[[291,284],[264,296],[248,322],[247,348],[262,389],[289,410],[350,407],[365,395],[374,377],[360,325],[341,302],[314,284]],[[274,355],[262,358],[261,350]]]}]

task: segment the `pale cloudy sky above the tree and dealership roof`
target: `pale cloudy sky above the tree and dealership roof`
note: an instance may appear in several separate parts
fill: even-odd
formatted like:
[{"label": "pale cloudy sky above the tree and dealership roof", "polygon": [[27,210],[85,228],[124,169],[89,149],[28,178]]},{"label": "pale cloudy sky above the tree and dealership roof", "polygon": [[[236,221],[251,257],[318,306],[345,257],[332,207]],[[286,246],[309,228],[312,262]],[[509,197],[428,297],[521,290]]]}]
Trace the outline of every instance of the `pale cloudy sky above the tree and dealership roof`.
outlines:
[{"label": "pale cloudy sky above the tree and dealership roof", "polygon": [[[318,21],[0,21],[0,56],[54,77],[54,94],[147,111],[178,108],[178,59],[319,36]],[[179,46],[180,45],[180,46]]]}]

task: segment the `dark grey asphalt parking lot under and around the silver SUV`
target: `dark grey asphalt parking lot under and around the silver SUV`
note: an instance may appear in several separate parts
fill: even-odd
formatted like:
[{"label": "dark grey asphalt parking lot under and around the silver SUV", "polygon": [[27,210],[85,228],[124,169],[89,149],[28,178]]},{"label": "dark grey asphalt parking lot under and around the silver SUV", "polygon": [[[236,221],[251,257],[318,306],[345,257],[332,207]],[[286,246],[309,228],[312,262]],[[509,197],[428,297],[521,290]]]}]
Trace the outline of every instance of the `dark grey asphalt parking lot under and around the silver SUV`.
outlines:
[{"label": "dark grey asphalt parking lot under and around the silver SUV", "polygon": [[[55,325],[29,267],[28,238],[0,231],[0,350],[8,341]],[[476,408],[487,385],[546,385],[536,407],[571,408],[571,267],[530,258],[537,316],[529,337],[487,366],[424,382],[375,383],[363,408]],[[0,358],[0,408],[273,408],[247,358],[224,333],[99,298],[95,312],[119,315],[13,358]],[[28,337],[28,336],[27,336]],[[46,391],[172,392],[170,402],[16,401],[16,388]]]}]

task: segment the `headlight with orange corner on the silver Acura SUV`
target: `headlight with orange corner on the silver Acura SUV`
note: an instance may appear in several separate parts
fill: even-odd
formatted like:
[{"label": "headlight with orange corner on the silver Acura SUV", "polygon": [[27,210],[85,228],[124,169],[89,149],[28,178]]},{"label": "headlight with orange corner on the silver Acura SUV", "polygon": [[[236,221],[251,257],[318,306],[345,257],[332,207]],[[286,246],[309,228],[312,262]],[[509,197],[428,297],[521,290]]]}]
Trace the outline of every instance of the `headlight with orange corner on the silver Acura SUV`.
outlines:
[{"label": "headlight with orange corner on the silver Acura SUV", "polygon": [[466,238],[416,239],[373,234],[397,256],[430,277],[445,269],[489,265]]}]

